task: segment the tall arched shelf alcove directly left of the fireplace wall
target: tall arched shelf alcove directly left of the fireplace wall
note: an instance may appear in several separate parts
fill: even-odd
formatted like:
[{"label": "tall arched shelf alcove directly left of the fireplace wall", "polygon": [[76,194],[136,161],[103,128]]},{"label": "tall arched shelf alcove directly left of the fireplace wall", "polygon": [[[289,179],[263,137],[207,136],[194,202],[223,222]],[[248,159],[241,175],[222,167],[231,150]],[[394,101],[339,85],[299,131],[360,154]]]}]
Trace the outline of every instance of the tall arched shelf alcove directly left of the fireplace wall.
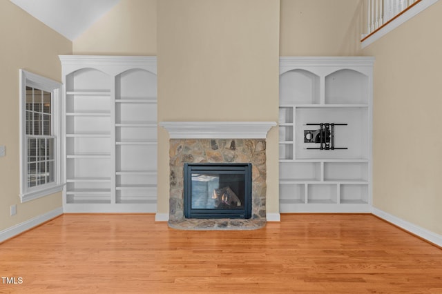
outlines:
[{"label": "tall arched shelf alcove directly left of the fireplace wall", "polygon": [[157,75],[131,68],[115,77],[115,202],[156,202]]}]

